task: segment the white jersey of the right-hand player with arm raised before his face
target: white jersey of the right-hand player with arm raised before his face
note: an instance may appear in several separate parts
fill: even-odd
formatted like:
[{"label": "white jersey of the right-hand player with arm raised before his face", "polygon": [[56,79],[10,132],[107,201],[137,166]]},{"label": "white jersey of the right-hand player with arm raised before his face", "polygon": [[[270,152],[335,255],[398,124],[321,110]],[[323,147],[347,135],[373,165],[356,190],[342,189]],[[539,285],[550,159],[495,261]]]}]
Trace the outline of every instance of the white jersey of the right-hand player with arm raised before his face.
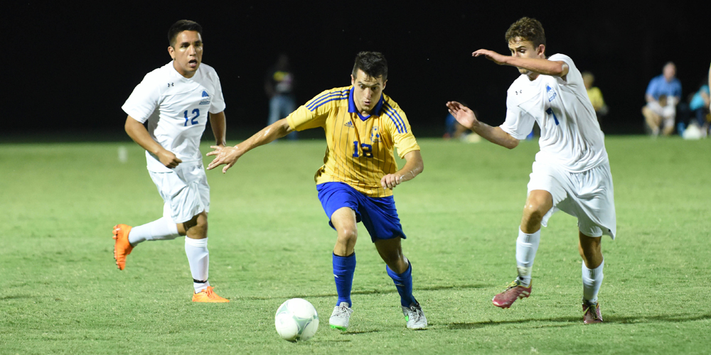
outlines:
[{"label": "white jersey of the right-hand player with arm raised before his face", "polygon": [[506,121],[501,129],[513,138],[524,139],[540,126],[540,151],[535,160],[557,165],[572,173],[605,163],[604,134],[587,97],[582,75],[567,55],[551,55],[548,60],[568,65],[565,80],[538,75],[531,81],[521,75],[508,88]]}]

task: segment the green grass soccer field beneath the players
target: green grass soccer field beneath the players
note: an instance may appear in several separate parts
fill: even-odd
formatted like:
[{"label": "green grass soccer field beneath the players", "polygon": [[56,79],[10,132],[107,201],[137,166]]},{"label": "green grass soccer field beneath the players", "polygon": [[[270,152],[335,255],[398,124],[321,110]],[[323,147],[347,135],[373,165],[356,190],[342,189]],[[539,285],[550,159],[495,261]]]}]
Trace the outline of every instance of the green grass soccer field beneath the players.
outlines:
[{"label": "green grass soccer field beneath the players", "polygon": [[[515,276],[538,144],[419,143],[424,173],[395,200],[429,329],[405,328],[361,228],[345,333],[328,328],[335,232],[313,182],[324,141],[271,144],[227,175],[208,172],[210,283],[228,304],[190,302],[183,238],[146,242],[125,271],[114,265],[112,226],[162,212],[134,143],[0,145],[0,354],[710,353],[711,141],[606,139],[618,234],[604,236],[605,322],[592,325],[582,324],[576,220],[562,212],[542,231],[531,297],[491,305]],[[319,311],[308,342],[274,330],[292,297]]]}]

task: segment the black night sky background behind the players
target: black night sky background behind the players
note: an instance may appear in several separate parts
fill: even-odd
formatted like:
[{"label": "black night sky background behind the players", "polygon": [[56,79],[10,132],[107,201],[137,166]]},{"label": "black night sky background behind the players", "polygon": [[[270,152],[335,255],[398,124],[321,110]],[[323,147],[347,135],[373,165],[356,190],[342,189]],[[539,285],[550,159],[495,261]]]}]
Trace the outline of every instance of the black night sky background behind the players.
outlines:
[{"label": "black night sky background behind the players", "polygon": [[683,99],[707,78],[704,2],[25,1],[0,15],[7,123],[0,139],[82,132],[98,141],[128,139],[121,105],[147,72],[170,61],[166,33],[181,18],[203,26],[203,62],[220,75],[228,140],[266,124],[264,74],[280,52],[292,59],[299,104],[350,84],[355,53],[378,50],[389,63],[385,92],[416,136],[442,136],[449,100],[501,124],[518,72],[471,52],[508,53],[503,35],[522,16],[542,22],[547,55],[570,55],[579,70],[594,73],[611,110],[606,133],[642,133],[643,94],[665,62],[677,64]]}]

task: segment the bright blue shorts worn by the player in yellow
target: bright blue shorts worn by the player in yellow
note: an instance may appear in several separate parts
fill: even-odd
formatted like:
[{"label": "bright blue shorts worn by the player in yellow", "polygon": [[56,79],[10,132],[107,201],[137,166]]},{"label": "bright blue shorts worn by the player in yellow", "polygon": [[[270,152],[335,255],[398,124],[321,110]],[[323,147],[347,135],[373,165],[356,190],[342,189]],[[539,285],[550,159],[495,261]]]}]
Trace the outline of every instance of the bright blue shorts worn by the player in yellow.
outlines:
[{"label": "bright blue shorts worn by the player in yellow", "polygon": [[355,211],[355,222],[363,222],[365,229],[368,229],[373,243],[378,239],[393,239],[398,236],[405,239],[392,196],[368,197],[343,182],[324,182],[316,185],[316,190],[319,191],[319,200],[331,228],[333,212],[341,207],[348,207]]}]

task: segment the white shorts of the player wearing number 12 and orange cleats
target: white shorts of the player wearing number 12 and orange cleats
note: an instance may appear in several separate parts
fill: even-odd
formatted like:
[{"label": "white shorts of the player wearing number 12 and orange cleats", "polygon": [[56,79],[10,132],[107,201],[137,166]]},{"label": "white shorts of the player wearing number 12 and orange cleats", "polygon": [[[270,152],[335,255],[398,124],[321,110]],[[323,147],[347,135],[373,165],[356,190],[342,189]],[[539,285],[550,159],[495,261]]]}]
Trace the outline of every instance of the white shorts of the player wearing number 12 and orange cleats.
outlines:
[{"label": "white shorts of the player wearing number 12 and orange cleats", "polygon": [[210,212],[210,185],[202,162],[180,163],[169,173],[149,171],[165,202],[163,216],[175,223]]}]

